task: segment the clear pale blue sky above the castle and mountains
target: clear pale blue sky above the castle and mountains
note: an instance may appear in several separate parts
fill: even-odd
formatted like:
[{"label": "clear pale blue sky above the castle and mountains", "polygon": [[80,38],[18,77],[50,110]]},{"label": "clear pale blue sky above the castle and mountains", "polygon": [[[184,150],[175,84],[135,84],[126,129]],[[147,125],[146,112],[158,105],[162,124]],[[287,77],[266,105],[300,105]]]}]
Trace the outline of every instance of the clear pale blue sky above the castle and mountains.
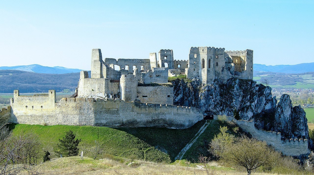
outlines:
[{"label": "clear pale blue sky above the castle and mountains", "polygon": [[103,58],[148,59],[190,47],[254,50],[254,63],[314,62],[314,1],[4,1],[0,66],[40,64],[90,70]]}]

